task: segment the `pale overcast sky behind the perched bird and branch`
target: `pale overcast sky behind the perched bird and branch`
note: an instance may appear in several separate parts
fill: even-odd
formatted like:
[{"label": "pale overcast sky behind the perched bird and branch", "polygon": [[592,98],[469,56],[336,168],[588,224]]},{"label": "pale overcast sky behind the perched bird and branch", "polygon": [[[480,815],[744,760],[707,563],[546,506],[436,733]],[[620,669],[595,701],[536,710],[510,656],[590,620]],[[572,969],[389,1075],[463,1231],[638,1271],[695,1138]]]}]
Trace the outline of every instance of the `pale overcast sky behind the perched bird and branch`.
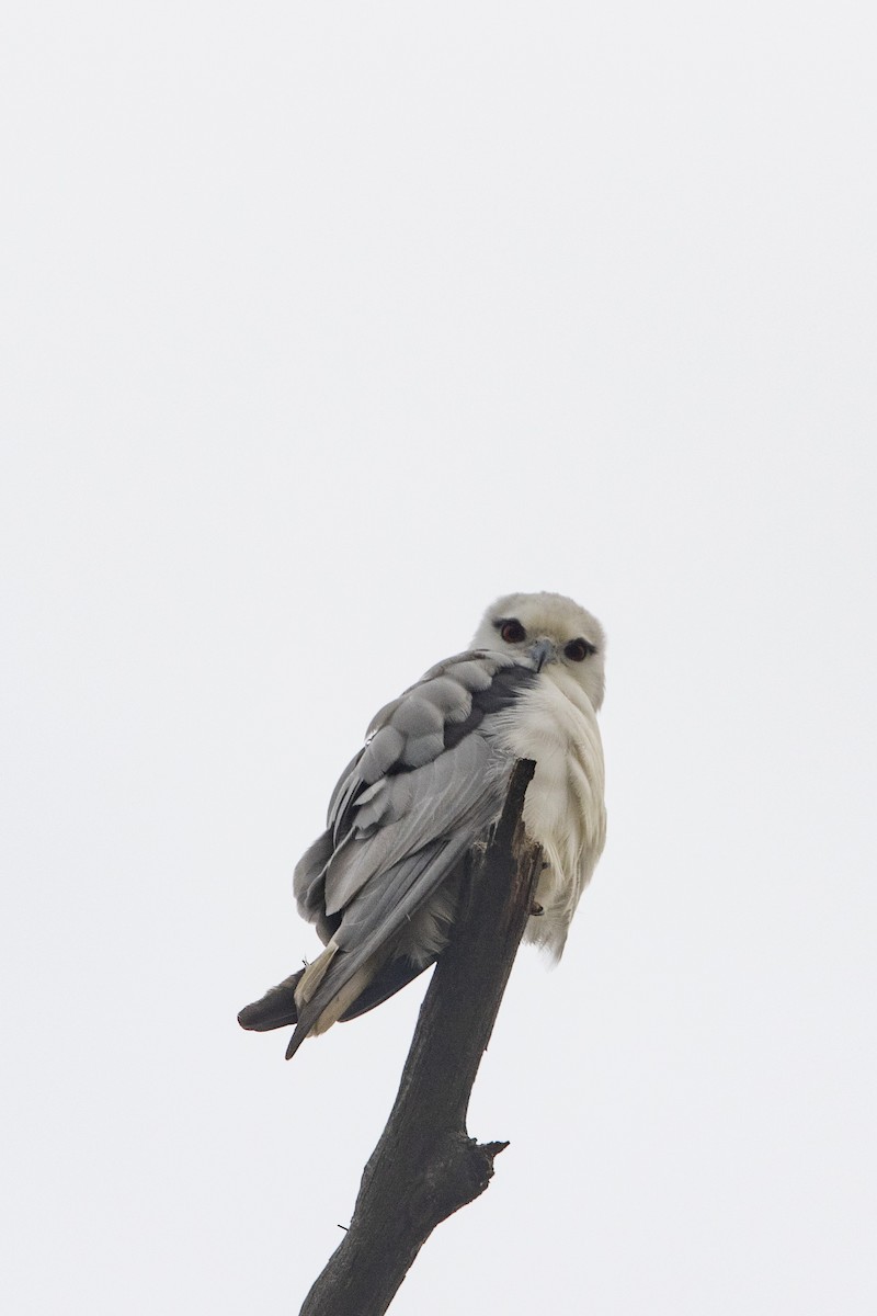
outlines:
[{"label": "pale overcast sky behind the perched bird and branch", "polygon": [[21,5],[0,63],[5,1309],[285,1316],[423,980],[292,867],[497,595],[609,634],[609,841],[393,1305],[870,1316],[869,5]]}]

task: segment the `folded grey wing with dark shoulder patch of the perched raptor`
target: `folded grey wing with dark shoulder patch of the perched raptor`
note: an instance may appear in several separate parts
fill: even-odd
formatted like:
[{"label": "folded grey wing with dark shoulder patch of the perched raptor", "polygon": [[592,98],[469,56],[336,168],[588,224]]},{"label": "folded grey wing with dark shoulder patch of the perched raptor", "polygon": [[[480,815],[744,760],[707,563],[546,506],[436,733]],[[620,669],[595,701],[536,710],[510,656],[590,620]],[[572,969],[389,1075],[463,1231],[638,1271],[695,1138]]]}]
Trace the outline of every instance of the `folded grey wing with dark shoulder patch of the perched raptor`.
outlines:
[{"label": "folded grey wing with dark shoulder patch of the perched raptor", "polygon": [[513,763],[496,732],[535,679],[505,654],[459,654],[372,722],[335,787],[326,832],[296,867],[298,909],[338,953],[300,1011],[293,1049],[500,813]]}]

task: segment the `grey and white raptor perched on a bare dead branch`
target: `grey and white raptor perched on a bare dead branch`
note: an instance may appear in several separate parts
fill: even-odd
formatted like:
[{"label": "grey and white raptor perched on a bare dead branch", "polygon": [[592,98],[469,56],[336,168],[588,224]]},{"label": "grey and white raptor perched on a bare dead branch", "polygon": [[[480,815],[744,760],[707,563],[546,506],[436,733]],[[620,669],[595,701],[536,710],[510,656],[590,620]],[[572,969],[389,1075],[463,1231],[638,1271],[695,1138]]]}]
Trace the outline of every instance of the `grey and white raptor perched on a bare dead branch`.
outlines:
[{"label": "grey and white raptor perched on a bare dead branch", "polygon": [[298,912],[325,950],[238,1015],[266,1032],[354,1019],[427,969],[448,941],[469,851],[518,759],[535,761],[523,821],[544,869],[525,940],[563,953],[604,848],[600,622],[559,594],[488,608],[472,647],[376,715],[334,790],[326,830],[296,866]]}]

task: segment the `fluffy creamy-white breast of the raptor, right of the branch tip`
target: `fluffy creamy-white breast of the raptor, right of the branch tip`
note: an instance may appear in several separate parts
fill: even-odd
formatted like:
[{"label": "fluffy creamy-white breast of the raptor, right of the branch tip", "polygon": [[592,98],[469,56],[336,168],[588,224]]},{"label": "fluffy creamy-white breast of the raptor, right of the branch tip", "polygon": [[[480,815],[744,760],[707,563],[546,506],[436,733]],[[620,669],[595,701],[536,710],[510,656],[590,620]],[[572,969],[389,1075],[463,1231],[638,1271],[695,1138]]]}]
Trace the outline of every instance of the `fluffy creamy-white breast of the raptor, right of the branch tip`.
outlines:
[{"label": "fluffy creamy-white breast of the raptor, right of the branch tip", "polygon": [[547,867],[536,888],[543,913],[525,937],[556,958],[606,838],[604,750],[597,717],[581,686],[552,663],[505,721],[500,742],[515,758],[535,759],[523,821]]}]

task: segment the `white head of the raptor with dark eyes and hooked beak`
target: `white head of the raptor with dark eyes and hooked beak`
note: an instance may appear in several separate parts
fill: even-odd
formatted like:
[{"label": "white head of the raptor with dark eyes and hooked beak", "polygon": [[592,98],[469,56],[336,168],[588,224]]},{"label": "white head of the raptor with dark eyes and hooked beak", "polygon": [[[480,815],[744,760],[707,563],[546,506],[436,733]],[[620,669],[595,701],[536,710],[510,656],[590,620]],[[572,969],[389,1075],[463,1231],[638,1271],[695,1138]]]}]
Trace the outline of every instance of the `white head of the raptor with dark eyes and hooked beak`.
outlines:
[{"label": "white head of the raptor with dark eyes and hooked beak", "polygon": [[472,647],[511,653],[559,684],[577,682],[594,709],[604,701],[604,628],[561,594],[509,594],[497,599],[484,613]]}]

